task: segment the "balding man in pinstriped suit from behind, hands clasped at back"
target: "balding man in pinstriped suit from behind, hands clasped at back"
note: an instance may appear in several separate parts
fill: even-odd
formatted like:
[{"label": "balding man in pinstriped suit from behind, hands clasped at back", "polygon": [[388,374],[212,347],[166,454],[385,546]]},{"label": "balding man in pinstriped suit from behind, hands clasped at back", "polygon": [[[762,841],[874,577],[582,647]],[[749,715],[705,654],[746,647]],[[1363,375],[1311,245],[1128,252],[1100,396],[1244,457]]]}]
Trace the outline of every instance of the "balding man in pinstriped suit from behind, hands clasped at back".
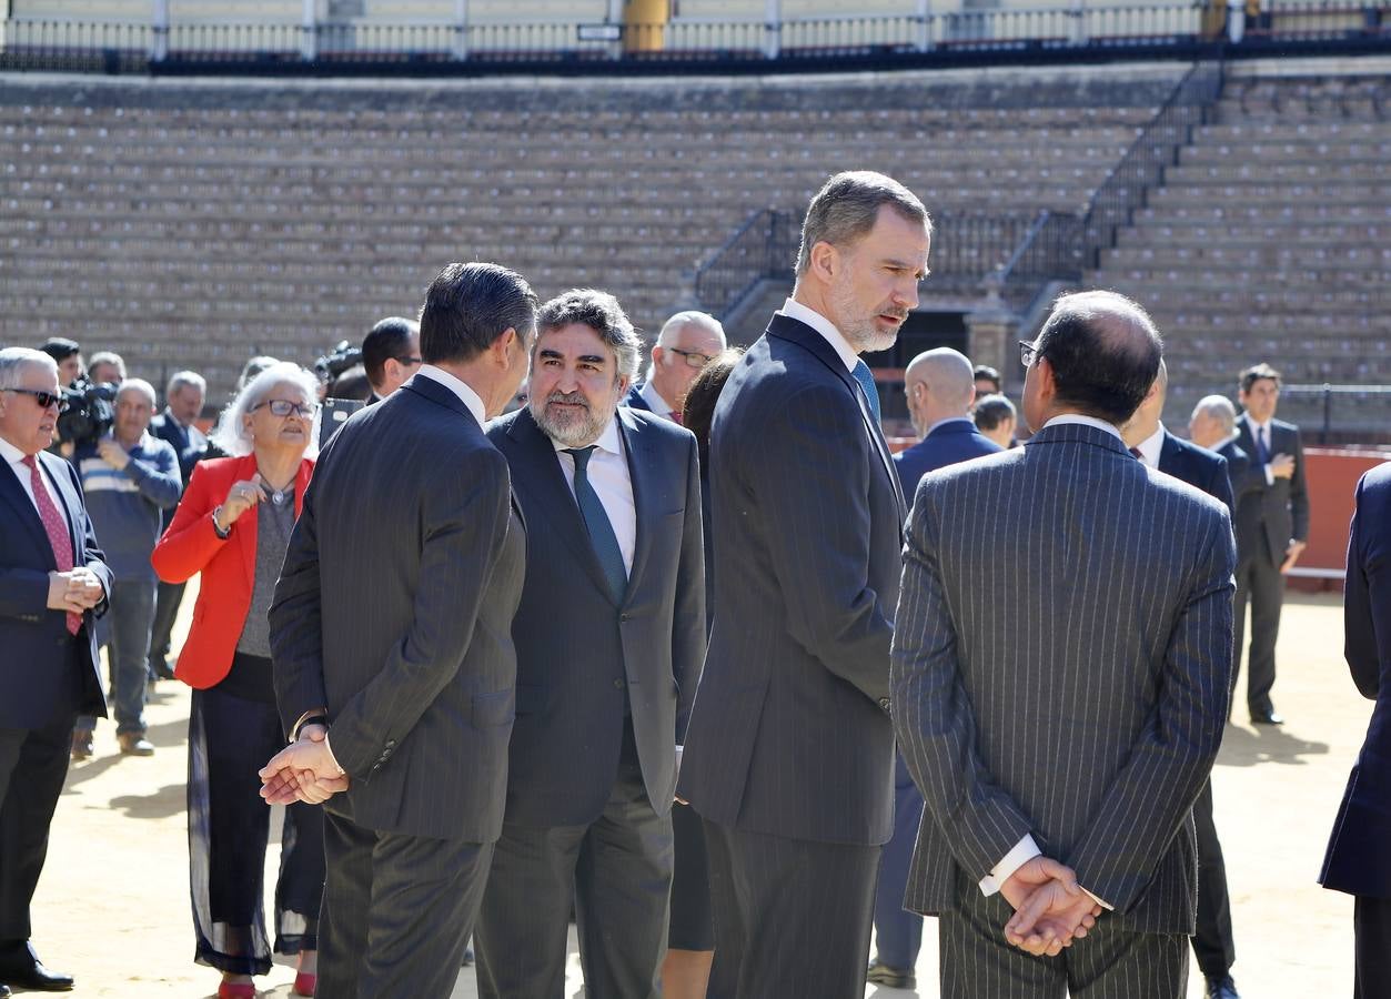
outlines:
[{"label": "balding man in pinstriped suit from behind, hands clasped at back", "polygon": [[[893,721],[926,817],[907,904],[940,916],[946,999],[1181,999],[1192,808],[1230,696],[1231,522],[1121,441],[1160,360],[1138,305],[1067,295],[1022,348],[1034,437],[926,476],[912,502]],[[1042,850],[1061,877],[1040,877]],[[1063,956],[1011,948],[1057,952],[1091,916]]]}]

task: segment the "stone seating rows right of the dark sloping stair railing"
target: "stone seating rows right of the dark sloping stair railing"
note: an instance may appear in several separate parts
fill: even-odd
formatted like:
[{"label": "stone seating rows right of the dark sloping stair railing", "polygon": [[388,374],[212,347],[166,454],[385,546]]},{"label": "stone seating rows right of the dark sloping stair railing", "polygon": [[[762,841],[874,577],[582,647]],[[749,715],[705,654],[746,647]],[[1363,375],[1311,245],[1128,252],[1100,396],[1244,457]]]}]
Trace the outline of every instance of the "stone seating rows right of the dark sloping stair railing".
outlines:
[{"label": "stone seating rows right of the dark sloping stair railing", "polygon": [[[1088,274],[1164,334],[1171,426],[1202,395],[1235,397],[1257,360],[1287,384],[1391,384],[1391,88],[1355,61],[1331,70],[1234,70],[1213,124]],[[1280,408],[1321,424],[1314,392]],[[1384,440],[1391,397],[1340,398],[1334,430]]]}]

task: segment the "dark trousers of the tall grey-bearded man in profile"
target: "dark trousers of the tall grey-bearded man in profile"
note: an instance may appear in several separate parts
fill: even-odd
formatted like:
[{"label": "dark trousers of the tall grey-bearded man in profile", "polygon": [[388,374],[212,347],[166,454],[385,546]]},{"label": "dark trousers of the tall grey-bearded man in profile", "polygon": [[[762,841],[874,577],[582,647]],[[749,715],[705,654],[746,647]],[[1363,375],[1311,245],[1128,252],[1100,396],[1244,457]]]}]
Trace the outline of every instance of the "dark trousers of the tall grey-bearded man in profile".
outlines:
[{"label": "dark trousers of the tall grey-bearded man in profile", "polygon": [[864,995],[878,846],[786,839],[708,820],[705,843],[715,903],[708,999]]}]

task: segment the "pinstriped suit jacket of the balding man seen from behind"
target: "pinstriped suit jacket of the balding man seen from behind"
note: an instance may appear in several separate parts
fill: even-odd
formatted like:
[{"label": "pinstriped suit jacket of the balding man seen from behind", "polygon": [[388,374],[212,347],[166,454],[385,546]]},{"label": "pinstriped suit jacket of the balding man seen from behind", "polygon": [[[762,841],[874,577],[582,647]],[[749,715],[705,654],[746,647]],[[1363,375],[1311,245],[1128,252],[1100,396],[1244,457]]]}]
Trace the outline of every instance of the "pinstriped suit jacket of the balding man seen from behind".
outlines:
[{"label": "pinstriped suit jacket of the balding man seen from behind", "polygon": [[922,480],[893,648],[928,808],[907,907],[956,907],[957,868],[975,882],[1032,833],[1124,928],[1192,932],[1234,566],[1225,506],[1096,427]]}]

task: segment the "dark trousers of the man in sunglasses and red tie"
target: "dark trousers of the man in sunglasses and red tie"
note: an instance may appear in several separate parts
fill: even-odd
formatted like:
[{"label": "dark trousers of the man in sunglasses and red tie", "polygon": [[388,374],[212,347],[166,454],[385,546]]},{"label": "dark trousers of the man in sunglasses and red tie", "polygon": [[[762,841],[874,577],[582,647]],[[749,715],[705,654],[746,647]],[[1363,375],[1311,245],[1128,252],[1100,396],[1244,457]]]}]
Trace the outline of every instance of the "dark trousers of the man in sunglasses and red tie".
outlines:
[{"label": "dark trousers of the man in sunglasses and red tie", "polygon": [[72,717],[60,714],[38,729],[0,729],[0,953],[29,939],[29,903],[68,774]]}]

